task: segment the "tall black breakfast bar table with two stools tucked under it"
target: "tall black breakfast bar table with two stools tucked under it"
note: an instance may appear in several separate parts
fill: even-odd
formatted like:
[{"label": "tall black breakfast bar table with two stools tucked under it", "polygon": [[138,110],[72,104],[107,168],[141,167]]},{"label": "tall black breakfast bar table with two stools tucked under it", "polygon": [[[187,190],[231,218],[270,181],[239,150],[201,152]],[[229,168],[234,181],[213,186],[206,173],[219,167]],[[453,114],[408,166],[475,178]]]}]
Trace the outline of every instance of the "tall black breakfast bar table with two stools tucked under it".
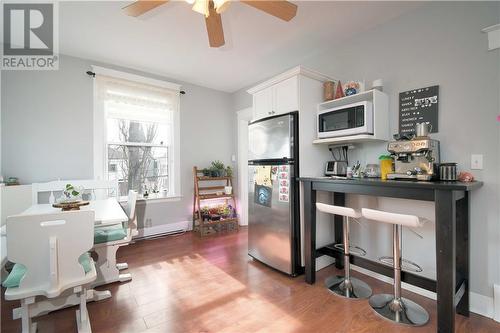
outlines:
[{"label": "tall black breakfast bar table with two stools tucked under it", "polygon": [[[437,294],[438,332],[454,332],[455,312],[469,316],[469,219],[470,195],[482,182],[423,182],[380,179],[332,179],[301,177],[304,197],[304,254],[306,282],[316,280],[316,258],[329,255],[337,268],[343,254],[333,246],[316,249],[316,192],[333,193],[333,204],[345,206],[346,194],[363,194],[435,202],[436,280],[401,272],[401,280]],[[335,243],[342,243],[342,217],[336,215]],[[351,255],[351,263],[393,277],[393,269],[378,262]]]}]

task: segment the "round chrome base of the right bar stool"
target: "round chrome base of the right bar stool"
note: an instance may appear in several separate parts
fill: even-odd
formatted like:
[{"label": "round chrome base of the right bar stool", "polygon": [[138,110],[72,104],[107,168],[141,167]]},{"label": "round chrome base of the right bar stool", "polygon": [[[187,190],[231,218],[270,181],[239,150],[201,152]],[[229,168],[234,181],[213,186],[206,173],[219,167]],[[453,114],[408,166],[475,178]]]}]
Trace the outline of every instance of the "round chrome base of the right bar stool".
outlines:
[{"label": "round chrome base of the right bar stool", "polygon": [[396,323],[422,326],[429,321],[427,311],[407,298],[396,300],[394,295],[377,294],[370,297],[369,303],[380,316]]}]

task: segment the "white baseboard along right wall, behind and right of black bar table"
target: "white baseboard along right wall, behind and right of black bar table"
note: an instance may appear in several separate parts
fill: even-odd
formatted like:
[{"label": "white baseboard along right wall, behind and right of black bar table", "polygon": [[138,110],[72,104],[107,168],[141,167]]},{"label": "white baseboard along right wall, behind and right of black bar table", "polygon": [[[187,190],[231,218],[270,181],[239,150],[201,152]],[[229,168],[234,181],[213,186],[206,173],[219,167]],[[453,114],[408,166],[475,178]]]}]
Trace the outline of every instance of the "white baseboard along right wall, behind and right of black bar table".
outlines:
[{"label": "white baseboard along right wall, behind and right of black bar table", "polygon": [[[387,277],[385,275],[381,275],[381,274],[372,272],[372,271],[369,271],[369,270],[366,270],[366,269],[361,268],[359,266],[351,265],[351,269],[353,271],[360,272],[364,275],[370,276],[370,277],[375,278],[377,280],[380,280],[382,282],[386,282],[389,284],[393,283],[392,278]],[[413,285],[405,283],[405,282],[401,283],[401,288],[408,290],[408,291],[411,291],[412,293],[430,298],[432,300],[437,299],[436,293],[429,291],[429,290],[425,290],[425,289],[416,287],[416,286],[413,286]],[[498,293],[499,293],[497,299],[500,299],[500,286],[498,286],[497,289],[498,289]],[[495,308],[492,297],[483,296],[483,295],[477,294],[475,292],[469,292],[469,309],[471,312],[477,313],[481,316],[495,319],[494,316],[495,316],[496,308]],[[499,304],[498,311],[500,311],[500,304]],[[500,317],[500,315],[499,315],[499,317]],[[495,319],[495,320],[498,321],[498,319]]]}]

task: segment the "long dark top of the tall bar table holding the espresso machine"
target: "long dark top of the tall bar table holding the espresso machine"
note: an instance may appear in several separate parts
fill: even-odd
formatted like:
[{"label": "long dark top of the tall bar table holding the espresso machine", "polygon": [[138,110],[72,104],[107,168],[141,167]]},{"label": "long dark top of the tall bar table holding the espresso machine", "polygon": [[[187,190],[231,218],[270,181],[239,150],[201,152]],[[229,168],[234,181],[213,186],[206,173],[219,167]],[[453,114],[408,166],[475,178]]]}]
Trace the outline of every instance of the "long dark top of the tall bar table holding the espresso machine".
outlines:
[{"label": "long dark top of the tall bar table holding the espresso machine", "polygon": [[470,183],[450,182],[450,181],[412,181],[412,180],[381,180],[378,178],[351,178],[334,179],[331,177],[299,177],[302,182],[323,182],[339,185],[362,185],[362,186],[382,186],[397,188],[415,188],[426,190],[448,190],[448,191],[472,191],[483,186],[483,182],[473,181]]}]

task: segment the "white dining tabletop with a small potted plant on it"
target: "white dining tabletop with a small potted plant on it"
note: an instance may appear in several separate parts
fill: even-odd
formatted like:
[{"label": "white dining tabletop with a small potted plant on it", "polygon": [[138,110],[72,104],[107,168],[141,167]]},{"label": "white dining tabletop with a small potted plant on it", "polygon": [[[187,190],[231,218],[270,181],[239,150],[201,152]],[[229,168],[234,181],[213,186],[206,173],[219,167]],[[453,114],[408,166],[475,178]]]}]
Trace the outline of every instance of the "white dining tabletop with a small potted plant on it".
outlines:
[{"label": "white dining tabletop with a small potted plant on it", "polygon": [[[80,210],[93,210],[95,212],[95,226],[105,226],[128,221],[120,203],[115,198],[89,201],[87,206]],[[52,204],[36,204],[26,209],[21,215],[51,214],[60,212],[61,208],[54,208]]]}]

